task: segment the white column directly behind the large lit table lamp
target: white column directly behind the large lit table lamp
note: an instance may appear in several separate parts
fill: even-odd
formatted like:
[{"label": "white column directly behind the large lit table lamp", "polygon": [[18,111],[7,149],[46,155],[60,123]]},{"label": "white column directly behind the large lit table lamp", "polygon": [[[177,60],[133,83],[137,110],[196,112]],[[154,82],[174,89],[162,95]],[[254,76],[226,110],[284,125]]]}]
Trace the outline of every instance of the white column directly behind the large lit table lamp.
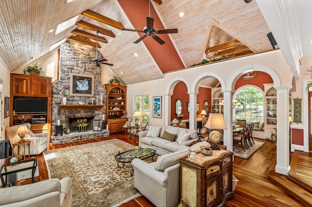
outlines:
[{"label": "white column directly behind the large lit table lamp", "polygon": [[223,130],[223,145],[233,152],[233,128],[232,128],[232,90],[221,90],[223,92],[223,117],[228,129]]}]

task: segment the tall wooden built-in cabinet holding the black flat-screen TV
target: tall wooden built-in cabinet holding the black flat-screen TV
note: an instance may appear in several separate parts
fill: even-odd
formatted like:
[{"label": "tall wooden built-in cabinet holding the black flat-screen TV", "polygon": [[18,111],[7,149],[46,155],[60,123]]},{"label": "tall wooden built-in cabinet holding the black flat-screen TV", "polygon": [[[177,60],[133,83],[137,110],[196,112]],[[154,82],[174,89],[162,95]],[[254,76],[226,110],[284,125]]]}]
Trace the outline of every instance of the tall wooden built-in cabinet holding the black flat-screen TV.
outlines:
[{"label": "tall wooden built-in cabinet holding the black flat-screen TV", "polygon": [[[10,75],[10,126],[22,123],[31,123],[33,133],[49,133],[49,141],[51,136],[51,85],[52,78],[39,75],[17,74]],[[47,100],[46,113],[14,113],[15,98],[36,98]],[[44,117],[43,123],[32,123],[33,117]]]}]

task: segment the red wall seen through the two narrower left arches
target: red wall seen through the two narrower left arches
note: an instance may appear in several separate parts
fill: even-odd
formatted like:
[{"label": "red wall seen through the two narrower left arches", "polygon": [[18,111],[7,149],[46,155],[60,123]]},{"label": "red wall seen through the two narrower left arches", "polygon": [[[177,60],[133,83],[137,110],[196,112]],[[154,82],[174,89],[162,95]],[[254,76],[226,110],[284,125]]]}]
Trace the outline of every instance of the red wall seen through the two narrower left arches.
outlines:
[{"label": "red wall seen through the two narrower left arches", "polygon": [[[209,103],[209,108],[211,108],[211,88],[199,87],[197,94],[197,103],[199,103],[199,112],[197,112],[197,117],[201,117],[200,112],[204,108],[204,101],[207,100]],[[183,82],[176,84],[174,89],[174,94],[171,96],[171,121],[176,118],[175,115],[175,101],[180,99],[182,101],[182,114],[183,120],[188,120],[190,118],[190,113],[187,112],[187,103],[190,102],[190,96],[187,93],[187,87]],[[209,110],[211,111],[211,109]]]}]

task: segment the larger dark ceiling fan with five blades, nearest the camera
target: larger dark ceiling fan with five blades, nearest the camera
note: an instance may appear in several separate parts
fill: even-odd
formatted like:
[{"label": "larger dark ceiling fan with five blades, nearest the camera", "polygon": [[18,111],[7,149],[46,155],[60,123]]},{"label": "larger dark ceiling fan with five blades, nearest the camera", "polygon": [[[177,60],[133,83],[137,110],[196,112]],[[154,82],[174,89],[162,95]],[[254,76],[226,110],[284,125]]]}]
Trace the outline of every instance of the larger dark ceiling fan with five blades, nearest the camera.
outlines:
[{"label": "larger dark ceiling fan with five blades, nearest the camera", "polygon": [[141,40],[143,40],[147,36],[152,36],[152,38],[155,39],[160,45],[162,45],[166,42],[164,40],[162,40],[156,34],[177,33],[177,28],[156,30],[153,25],[154,25],[154,18],[151,17],[151,0],[149,0],[149,17],[146,17],[146,26],[143,28],[143,31],[142,30],[126,29],[126,28],[121,28],[121,30],[146,34],[146,35],[143,35],[140,38],[138,38],[134,43],[140,42]]}]

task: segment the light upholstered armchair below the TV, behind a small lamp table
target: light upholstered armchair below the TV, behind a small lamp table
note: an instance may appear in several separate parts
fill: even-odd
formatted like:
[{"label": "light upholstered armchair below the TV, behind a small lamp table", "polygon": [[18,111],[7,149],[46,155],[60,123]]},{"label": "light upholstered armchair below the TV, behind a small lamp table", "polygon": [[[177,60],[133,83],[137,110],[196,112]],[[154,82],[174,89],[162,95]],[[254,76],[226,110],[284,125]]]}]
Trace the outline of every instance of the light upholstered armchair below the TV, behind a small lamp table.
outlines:
[{"label": "light upholstered armchair below the TV, behind a small lamp table", "polygon": [[[30,155],[39,155],[44,150],[48,148],[49,144],[49,134],[48,133],[39,133],[34,134],[30,130],[30,123],[24,123],[23,125],[26,125],[29,133],[25,134],[25,140],[30,141],[29,147],[30,147]],[[20,125],[10,126],[5,129],[5,135],[6,138],[9,139],[10,144],[14,144],[16,142],[20,141],[19,135],[16,134],[18,131]],[[24,155],[23,147],[20,147],[20,150],[18,152],[18,147],[15,147],[14,149],[14,155]],[[28,144],[26,145],[25,154],[28,155]]]}]

